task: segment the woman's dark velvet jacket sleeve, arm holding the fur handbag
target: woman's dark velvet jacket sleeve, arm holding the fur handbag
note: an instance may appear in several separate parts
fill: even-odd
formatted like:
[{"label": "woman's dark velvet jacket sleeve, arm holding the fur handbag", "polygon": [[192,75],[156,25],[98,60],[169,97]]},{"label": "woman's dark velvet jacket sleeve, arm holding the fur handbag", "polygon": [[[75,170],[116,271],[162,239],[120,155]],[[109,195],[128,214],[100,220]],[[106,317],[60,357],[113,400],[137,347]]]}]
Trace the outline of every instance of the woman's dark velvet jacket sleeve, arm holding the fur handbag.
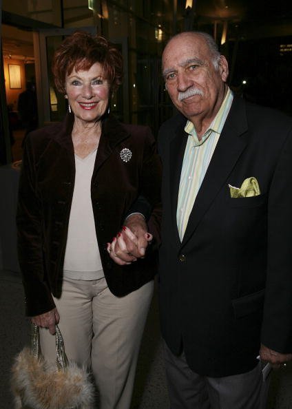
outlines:
[{"label": "woman's dark velvet jacket sleeve, arm holding the fur handbag", "polygon": [[38,193],[36,157],[30,136],[25,140],[17,206],[18,254],[27,315],[54,308],[45,274],[41,198]]}]

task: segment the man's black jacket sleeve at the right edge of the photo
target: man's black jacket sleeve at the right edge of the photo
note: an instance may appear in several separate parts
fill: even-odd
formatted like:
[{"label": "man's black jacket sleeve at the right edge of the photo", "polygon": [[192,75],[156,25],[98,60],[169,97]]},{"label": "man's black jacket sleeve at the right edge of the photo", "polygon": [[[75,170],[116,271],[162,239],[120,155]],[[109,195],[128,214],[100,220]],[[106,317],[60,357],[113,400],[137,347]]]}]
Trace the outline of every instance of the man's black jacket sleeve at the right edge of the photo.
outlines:
[{"label": "man's black jacket sleeve at the right edge of the photo", "polygon": [[262,344],[292,353],[292,130],[269,190],[267,282]]}]

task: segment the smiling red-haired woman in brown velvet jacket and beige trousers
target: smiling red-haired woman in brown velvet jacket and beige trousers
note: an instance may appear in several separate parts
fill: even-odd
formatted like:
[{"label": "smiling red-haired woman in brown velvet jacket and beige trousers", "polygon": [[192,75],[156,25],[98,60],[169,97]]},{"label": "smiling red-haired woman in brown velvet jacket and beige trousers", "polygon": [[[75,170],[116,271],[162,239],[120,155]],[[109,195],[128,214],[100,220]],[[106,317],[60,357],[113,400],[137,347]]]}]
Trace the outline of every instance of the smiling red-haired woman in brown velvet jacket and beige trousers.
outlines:
[{"label": "smiling red-haired woman in brown velvet jacket and beige trousers", "polygon": [[[17,216],[26,311],[41,327],[43,355],[55,359],[59,322],[67,357],[91,368],[102,409],[130,406],[160,220],[154,138],[110,114],[122,62],[111,43],[85,32],[56,51],[52,70],[69,112],[25,140]],[[143,260],[121,266],[109,243],[117,231],[132,234],[123,221],[139,195],[152,207],[152,245]]]}]

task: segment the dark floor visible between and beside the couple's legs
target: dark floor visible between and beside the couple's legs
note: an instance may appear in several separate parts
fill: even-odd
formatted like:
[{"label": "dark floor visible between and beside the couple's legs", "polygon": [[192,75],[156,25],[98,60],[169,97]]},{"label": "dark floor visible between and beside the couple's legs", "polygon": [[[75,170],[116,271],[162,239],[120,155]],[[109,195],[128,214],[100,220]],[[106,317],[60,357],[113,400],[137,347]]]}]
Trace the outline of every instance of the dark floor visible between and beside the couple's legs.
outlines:
[{"label": "dark floor visible between and beside the couple's legs", "polygon": [[[0,311],[0,409],[12,409],[9,382],[12,358],[30,342],[30,323],[24,317],[19,273],[0,271]],[[131,406],[131,409],[148,408],[169,408],[156,296],[145,328]],[[267,409],[292,409],[292,365],[273,373]]]}]

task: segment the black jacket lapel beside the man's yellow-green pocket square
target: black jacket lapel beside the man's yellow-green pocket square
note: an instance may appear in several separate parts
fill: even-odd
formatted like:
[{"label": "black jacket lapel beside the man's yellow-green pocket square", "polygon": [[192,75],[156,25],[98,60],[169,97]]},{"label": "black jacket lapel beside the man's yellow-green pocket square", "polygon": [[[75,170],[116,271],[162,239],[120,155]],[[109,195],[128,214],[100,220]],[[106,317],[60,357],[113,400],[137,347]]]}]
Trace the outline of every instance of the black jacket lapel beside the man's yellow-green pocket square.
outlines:
[{"label": "black jacket lapel beside the man's yellow-green pocket square", "polygon": [[247,144],[242,136],[246,131],[247,119],[244,101],[239,98],[234,98],[207,173],[202,181],[194,207],[189,216],[189,222],[182,245],[184,245],[194,233],[198,223],[216,198],[222,185],[226,183],[229,174]]}]

